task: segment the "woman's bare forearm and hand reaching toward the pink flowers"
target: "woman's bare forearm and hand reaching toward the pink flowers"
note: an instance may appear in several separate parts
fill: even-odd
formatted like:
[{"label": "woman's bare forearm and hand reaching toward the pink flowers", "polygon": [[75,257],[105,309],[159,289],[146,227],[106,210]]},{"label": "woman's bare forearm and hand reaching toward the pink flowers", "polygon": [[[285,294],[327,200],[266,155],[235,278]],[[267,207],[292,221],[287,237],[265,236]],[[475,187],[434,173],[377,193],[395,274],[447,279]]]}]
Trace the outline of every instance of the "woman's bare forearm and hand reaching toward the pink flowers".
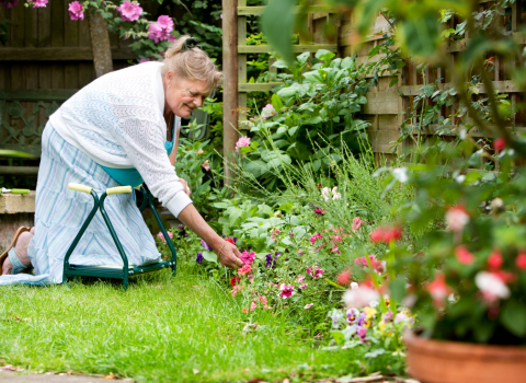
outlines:
[{"label": "woman's bare forearm and hand reaching toward the pink flowers", "polygon": [[216,252],[221,265],[230,268],[243,266],[243,262],[239,259],[241,253],[239,253],[238,247],[221,239],[201,217],[193,204],[181,210],[178,218]]}]

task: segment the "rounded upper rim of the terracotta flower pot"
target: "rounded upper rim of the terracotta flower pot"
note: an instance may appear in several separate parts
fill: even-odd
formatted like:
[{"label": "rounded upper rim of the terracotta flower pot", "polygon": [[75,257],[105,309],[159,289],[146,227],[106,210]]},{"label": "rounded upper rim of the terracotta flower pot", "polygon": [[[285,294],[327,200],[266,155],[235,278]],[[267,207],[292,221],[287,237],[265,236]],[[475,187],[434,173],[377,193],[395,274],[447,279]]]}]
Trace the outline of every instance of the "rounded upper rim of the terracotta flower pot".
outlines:
[{"label": "rounded upper rim of the terracotta flower pot", "polygon": [[424,338],[414,334],[413,332],[407,332],[403,336],[408,348],[418,350],[422,353],[433,353],[435,357],[441,355],[447,358],[458,356],[459,358],[470,355],[471,358],[480,359],[522,359],[526,361],[526,347],[525,346],[507,346],[507,345],[483,345],[483,344],[469,344],[455,340],[438,340]]}]

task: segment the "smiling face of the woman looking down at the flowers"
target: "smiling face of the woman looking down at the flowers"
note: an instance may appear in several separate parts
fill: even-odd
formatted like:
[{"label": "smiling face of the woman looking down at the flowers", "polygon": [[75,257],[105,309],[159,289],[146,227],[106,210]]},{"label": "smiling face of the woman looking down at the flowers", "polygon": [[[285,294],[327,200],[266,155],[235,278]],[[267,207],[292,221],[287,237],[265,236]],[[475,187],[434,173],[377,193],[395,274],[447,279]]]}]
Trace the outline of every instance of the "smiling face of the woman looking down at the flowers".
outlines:
[{"label": "smiling face of the woman looking down at the flowers", "polygon": [[171,71],[167,73],[163,85],[164,114],[171,111],[175,116],[188,117],[208,96],[206,81],[176,79]]}]

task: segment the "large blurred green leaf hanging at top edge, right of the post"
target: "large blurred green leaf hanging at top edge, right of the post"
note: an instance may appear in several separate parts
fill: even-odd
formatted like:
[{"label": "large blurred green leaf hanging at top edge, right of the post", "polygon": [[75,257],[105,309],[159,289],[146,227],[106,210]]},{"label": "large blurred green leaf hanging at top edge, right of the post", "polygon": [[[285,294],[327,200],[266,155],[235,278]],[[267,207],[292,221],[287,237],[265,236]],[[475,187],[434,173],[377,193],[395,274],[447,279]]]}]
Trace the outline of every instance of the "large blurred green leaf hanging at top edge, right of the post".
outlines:
[{"label": "large blurred green leaf hanging at top edge, right of the post", "polygon": [[268,43],[276,49],[290,66],[294,62],[290,36],[293,35],[296,13],[295,0],[272,1],[265,7],[261,18],[261,28]]}]

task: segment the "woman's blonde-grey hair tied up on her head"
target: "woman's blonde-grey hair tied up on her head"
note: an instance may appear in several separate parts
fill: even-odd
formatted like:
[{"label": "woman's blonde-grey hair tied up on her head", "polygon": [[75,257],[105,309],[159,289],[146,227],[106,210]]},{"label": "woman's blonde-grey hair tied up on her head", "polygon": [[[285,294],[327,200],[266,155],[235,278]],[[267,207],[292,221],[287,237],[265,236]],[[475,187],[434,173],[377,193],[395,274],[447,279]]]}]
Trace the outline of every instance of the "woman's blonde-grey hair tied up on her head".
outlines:
[{"label": "woman's blonde-grey hair tied up on her head", "polygon": [[208,91],[211,92],[222,82],[222,73],[201,48],[194,47],[181,51],[184,42],[188,38],[191,36],[181,36],[168,48],[164,54],[164,67],[161,70],[162,77],[172,71],[176,77],[190,81],[206,81]]}]

